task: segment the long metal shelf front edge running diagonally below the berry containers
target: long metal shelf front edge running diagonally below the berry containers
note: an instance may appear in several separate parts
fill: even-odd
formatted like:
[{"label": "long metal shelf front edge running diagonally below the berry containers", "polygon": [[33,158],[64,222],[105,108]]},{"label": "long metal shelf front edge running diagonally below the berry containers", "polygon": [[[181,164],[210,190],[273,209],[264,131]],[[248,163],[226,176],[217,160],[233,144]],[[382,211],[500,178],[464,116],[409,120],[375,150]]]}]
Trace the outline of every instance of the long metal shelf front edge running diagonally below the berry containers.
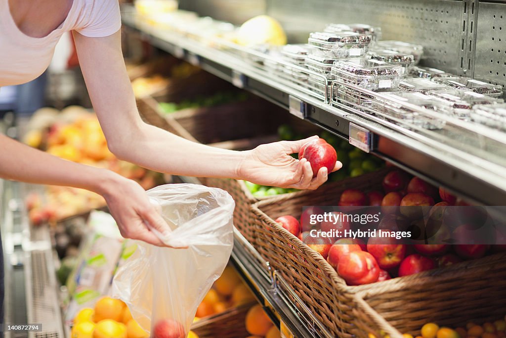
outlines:
[{"label": "long metal shelf front edge running diagonally below the berry containers", "polygon": [[442,185],[474,203],[506,203],[506,170],[497,168],[491,161],[470,156],[449,144],[427,138],[421,141],[408,130],[395,129],[385,123],[364,118],[352,109],[336,108],[297,86],[279,81],[266,70],[251,65],[237,55],[208,47],[179,33],[144,24],[136,20],[132,7],[124,9],[123,26],[139,33],[142,39],[153,46],[184,58],[289,111],[289,99],[299,100],[305,107],[302,114],[307,121],[342,138],[349,138],[350,123],[361,126],[371,132],[372,154],[435,185]]}]

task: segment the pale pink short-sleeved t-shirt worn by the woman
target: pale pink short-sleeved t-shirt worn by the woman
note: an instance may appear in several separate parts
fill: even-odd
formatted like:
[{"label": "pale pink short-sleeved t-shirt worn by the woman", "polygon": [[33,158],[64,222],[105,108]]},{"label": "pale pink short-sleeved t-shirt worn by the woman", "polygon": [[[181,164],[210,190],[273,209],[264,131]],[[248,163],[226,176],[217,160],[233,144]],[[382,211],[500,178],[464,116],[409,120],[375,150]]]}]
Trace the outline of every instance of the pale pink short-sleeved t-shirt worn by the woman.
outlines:
[{"label": "pale pink short-sleeved t-shirt worn by the woman", "polygon": [[111,35],[121,27],[118,0],[73,0],[65,21],[49,35],[31,37],[19,30],[0,0],[0,87],[37,78],[46,70],[63,33],[75,30],[89,37]]}]

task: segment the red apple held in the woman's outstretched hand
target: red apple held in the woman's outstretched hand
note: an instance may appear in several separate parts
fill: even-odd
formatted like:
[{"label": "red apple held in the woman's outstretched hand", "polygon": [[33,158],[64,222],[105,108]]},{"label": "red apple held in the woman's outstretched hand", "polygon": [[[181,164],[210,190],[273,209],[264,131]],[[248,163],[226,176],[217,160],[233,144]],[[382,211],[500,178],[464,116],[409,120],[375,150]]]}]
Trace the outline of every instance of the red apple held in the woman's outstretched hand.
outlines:
[{"label": "red apple held in the woman's outstretched hand", "polygon": [[338,160],[338,154],[333,146],[323,138],[318,138],[304,144],[299,150],[299,160],[306,159],[311,164],[313,177],[318,175],[320,168],[326,167],[327,173],[331,173]]}]

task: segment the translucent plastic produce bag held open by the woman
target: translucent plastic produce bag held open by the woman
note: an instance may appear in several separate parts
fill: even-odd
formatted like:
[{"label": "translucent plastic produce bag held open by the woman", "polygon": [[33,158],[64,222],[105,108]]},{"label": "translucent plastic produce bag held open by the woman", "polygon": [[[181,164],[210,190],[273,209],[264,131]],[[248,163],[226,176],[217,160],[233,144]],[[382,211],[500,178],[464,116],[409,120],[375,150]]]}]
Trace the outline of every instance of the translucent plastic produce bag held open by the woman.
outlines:
[{"label": "translucent plastic produce bag held open by the woman", "polygon": [[[233,246],[235,203],[225,191],[196,184],[167,184],[148,191],[172,228],[157,234],[166,245],[138,242],[139,249],[118,269],[112,294],[128,304],[133,318],[156,336],[156,329],[186,337],[206,292],[222,274]],[[155,330],[155,332],[153,332]]]}]

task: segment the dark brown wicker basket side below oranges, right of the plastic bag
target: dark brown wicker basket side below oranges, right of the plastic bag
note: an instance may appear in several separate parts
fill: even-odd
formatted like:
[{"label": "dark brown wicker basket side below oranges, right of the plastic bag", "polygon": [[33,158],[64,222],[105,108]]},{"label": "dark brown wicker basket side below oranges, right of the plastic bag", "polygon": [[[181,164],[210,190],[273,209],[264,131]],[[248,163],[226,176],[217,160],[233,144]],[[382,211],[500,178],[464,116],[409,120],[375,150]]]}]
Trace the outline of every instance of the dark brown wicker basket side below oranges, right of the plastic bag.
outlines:
[{"label": "dark brown wicker basket side below oranges, right of the plastic bag", "polygon": [[248,335],[246,331],[246,313],[253,304],[245,304],[240,307],[228,309],[220,314],[200,319],[193,323],[191,330],[199,338],[243,338]]}]

